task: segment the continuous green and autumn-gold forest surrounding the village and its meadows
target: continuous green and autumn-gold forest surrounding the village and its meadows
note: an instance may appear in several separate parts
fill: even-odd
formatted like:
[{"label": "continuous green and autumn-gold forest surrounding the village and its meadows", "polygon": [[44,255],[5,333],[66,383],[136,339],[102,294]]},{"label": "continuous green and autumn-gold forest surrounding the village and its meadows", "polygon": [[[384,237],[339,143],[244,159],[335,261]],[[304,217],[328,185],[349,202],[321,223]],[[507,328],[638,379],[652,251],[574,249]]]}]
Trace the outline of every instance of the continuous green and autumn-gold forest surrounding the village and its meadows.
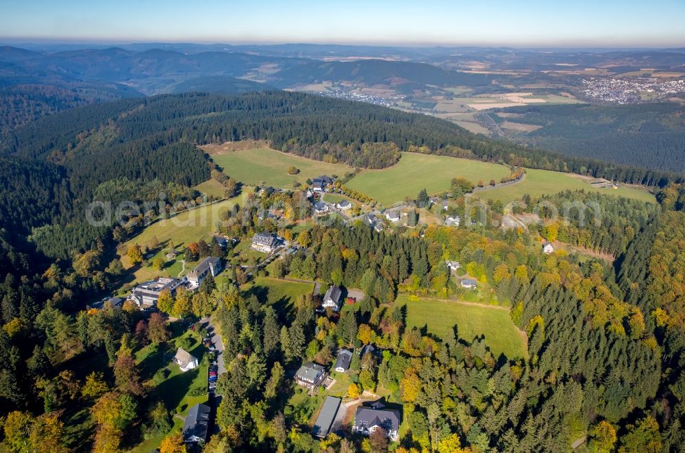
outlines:
[{"label": "continuous green and autumn-gold forest surrounding the village and its meadows", "polygon": [[[160,192],[169,205],[195,199],[192,186],[216,175],[196,145],[244,139],[372,169],[397,162],[397,151],[366,143],[577,171],[652,186],[660,203],[583,192],[526,196],[528,210],[538,201],[583,201],[592,213],[588,220],[571,211],[562,223],[543,211],[547,221],[529,230],[429,225],[419,235],[317,225],[292,238],[299,251],[268,271],[232,269],[222,284],[208,279],[195,293],[166,294],[161,313],[148,316],[131,304],[87,310],[120,282],[122,264],[112,252],[127,234],[92,226],[85,206],[92,199],[151,201]],[[166,315],[212,315],[225,340],[220,431],[204,446],[208,453],[387,452],[383,436],[318,441],[308,426],[313,413],[288,403],[289,376],[301,363],[329,364],[338,348],[369,344],[382,352],[355,354],[351,366],[359,372],[348,392],[382,388],[397,399],[406,428],[395,452],[558,452],[576,445],[638,453],[685,445],[680,174],[565,157],[431,117],[285,92],[162,95],[73,108],[17,127],[2,146],[0,438],[11,452],[119,452],[170,432],[169,395],[147,384],[165,376],[136,363],[142,350],[164,356],[172,336]],[[273,198],[286,196],[295,197]],[[456,205],[464,215],[463,199]],[[249,220],[236,226],[232,215]],[[220,232],[243,240],[277,228],[257,222],[248,206],[226,216]],[[131,216],[132,232],[142,217]],[[539,236],[614,259],[545,255]],[[206,243],[199,249],[209,255]],[[460,261],[488,289],[490,303],[509,310],[525,332],[525,356],[495,355],[487,338],[462,338],[458,324],[443,336],[408,324],[399,295],[464,294],[446,260]],[[271,304],[245,289],[266,273],[342,284],[366,297],[341,314],[315,313],[310,296]],[[171,434],[161,450],[185,451],[179,443]]]}]

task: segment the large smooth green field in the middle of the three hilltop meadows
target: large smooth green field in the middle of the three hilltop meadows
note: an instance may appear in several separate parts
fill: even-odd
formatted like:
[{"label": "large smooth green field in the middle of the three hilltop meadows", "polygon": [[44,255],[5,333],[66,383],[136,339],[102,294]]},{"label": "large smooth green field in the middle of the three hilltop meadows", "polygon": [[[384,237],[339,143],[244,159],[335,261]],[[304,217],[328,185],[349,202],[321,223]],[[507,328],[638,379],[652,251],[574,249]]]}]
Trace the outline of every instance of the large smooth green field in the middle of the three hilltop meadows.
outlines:
[{"label": "large smooth green field in the middle of the three hilltop meadows", "polygon": [[393,167],[364,170],[346,185],[388,206],[403,201],[405,197],[415,198],[422,188],[429,194],[447,191],[456,176],[466,177],[474,184],[478,180],[487,184],[490,179],[499,181],[507,175],[509,169],[504,165],[432,154],[402,153]]}]

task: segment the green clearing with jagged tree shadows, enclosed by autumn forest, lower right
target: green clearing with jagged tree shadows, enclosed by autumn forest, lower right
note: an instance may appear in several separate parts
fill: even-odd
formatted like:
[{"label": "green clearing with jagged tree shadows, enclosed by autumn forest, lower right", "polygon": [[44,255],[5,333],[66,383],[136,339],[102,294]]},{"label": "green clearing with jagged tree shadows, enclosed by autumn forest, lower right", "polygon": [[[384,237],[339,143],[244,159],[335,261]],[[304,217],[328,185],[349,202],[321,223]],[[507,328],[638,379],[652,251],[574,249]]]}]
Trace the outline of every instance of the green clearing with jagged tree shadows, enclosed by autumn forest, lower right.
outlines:
[{"label": "green clearing with jagged tree shadows, enclosed by autumn forest, lower right", "polygon": [[500,353],[508,358],[527,356],[523,334],[506,308],[438,299],[412,300],[406,295],[399,295],[395,303],[407,306],[408,328],[427,326],[429,332],[442,338],[456,324],[459,338],[465,341],[484,335],[495,357]]}]

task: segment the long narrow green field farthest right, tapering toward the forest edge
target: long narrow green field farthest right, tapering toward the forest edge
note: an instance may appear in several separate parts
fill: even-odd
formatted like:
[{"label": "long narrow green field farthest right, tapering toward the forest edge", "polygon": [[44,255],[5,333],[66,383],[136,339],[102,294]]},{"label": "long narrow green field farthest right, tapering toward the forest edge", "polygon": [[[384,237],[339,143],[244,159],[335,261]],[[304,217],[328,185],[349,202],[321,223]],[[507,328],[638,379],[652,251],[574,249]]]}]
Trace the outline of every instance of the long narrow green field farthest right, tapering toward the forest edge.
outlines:
[{"label": "long narrow green field farthest right, tapering toward the forest edge", "polygon": [[607,195],[634,198],[642,201],[655,201],[654,196],[651,195],[651,193],[640,188],[595,188],[580,177],[574,177],[568,173],[535,169],[526,170],[525,179],[518,184],[477,192],[475,195],[484,200],[499,199],[503,203],[508,203],[515,199],[521,199],[525,194],[532,197],[539,197],[540,195],[559,193],[566,190],[577,191],[580,189],[606,193]]}]

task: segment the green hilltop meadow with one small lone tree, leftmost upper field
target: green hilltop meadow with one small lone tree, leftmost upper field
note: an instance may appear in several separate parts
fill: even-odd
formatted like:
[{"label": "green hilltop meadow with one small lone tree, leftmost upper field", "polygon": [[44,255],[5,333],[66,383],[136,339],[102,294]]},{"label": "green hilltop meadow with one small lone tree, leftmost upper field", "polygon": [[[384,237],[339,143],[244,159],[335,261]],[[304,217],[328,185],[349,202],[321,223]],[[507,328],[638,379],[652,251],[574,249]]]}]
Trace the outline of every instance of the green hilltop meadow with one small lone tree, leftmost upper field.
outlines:
[{"label": "green hilltop meadow with one small lone tree, leftmost upper field", "polygon": [[[345,164],[328,164],[319,160],[301,158],[269,148],[242,149],[212,156],[214,163],[229,177],[244,184],[292,188],[292,182],[302,184],[309,178],[321,175],[342,177],[353,169]],[[288,167],[299,169],[297,175],[288,175]]]}]

